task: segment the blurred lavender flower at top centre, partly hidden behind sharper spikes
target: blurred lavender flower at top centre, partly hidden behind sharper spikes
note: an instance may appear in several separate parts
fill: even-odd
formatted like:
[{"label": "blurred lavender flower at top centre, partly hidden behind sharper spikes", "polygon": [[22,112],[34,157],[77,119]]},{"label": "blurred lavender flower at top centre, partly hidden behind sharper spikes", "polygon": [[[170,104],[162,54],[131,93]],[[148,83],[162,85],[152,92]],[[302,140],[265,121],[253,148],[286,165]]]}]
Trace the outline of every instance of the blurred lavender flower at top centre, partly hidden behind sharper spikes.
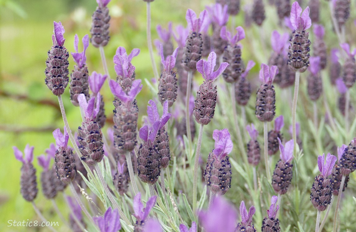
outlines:
[{"label": "blurred lavender flower at top centre, partly hidden behind sharper spikes", "polygon": [[221,5],[219,3],[207,7],[213,23],[213,48],[217,56],[221,56],[227,46],[227,41],[220,36],[221,27],[225,26],[229,20],[229,14],[227,14],[227,5]]}]

